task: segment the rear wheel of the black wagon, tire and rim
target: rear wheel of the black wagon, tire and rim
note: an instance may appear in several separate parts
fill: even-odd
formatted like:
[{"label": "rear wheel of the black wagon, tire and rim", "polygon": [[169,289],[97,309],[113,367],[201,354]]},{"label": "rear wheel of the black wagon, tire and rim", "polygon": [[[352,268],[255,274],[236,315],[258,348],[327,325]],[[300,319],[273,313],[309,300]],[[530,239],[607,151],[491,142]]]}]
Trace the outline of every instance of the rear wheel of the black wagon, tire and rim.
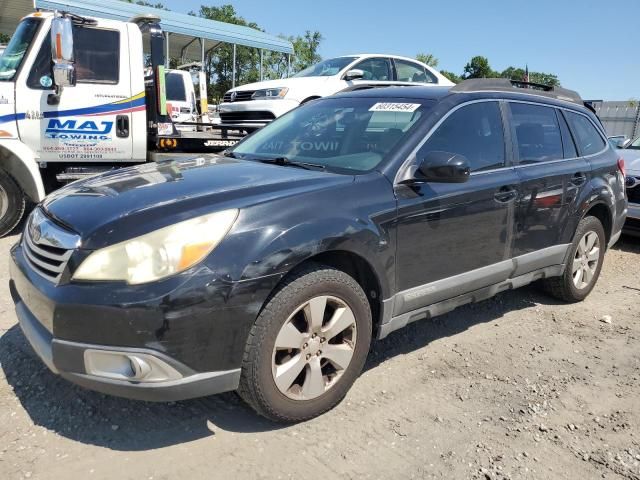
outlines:
[{"label": "rear wheel of the black wagon, tire and rim", "polygon": [[[591,245],[591,241],[595,243]],[[587,251],[583,253],[585,247]],[[564,273],[560,277],[543,280],[544,289],[565,302],[584,300],[598,281],[606,247],[606,235],[600,220],[592,216],[583,218],[576,229]]]}]

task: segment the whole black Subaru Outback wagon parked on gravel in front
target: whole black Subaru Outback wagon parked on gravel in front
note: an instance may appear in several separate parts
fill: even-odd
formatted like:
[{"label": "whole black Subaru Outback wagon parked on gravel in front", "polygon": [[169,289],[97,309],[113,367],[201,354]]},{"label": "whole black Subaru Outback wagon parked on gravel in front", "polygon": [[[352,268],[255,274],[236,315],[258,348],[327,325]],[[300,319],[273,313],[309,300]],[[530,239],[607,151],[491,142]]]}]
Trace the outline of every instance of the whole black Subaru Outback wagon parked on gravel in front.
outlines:
[{"label": "whole black Subaru Outback wagon parked on gravel in front", "polygon": [[409,322],[537,280],[584,299],[624,223],[623,170],[569,90],[346,92],[224,156],[59,190],[13,247],[10,288],[72,382],[146,400],[238,390],[299,421]]}]

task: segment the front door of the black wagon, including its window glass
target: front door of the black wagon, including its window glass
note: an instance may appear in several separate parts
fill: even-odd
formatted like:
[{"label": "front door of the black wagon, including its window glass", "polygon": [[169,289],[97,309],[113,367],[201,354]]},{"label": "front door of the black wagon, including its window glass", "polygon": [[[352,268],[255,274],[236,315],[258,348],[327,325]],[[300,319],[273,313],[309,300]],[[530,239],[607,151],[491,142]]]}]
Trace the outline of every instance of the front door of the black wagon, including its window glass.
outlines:
[{"label": "front door of the black wagon, including its window glass", "polygon": [[394,315],[508,278],[518,175],[505,147],[498,101],[450,112],[418,149],[464,155],[466,183],[396,185],[398,199]]}]

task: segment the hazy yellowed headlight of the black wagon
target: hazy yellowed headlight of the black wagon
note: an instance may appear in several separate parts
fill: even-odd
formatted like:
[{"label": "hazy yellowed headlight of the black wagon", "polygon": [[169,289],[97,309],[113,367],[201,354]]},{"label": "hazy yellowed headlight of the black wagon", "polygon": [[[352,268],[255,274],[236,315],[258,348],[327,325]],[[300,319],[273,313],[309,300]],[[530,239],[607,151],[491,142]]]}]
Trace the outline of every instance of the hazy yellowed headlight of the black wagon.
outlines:
[{"label": "hazy yellowed headlight of the black wagon", "polygon": [[74,280],[152,282],[202,261],[222,241],[238,210],[203,215],[96,250],[73,274]]}]

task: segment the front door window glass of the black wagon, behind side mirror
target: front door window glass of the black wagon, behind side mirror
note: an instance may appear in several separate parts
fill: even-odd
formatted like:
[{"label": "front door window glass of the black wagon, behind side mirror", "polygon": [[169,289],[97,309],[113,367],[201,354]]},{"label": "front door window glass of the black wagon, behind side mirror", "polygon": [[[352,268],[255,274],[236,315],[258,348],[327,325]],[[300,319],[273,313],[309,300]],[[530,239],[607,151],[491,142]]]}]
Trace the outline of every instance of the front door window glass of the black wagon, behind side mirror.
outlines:
[{"label": "front door window glass of the black wagon, behind side mirror", "polygon": [[453,112],[429,137],[418,157],[433,151],[464,155],[472,172],[503,167],[504,131],[498,103],[474,103]]}]

